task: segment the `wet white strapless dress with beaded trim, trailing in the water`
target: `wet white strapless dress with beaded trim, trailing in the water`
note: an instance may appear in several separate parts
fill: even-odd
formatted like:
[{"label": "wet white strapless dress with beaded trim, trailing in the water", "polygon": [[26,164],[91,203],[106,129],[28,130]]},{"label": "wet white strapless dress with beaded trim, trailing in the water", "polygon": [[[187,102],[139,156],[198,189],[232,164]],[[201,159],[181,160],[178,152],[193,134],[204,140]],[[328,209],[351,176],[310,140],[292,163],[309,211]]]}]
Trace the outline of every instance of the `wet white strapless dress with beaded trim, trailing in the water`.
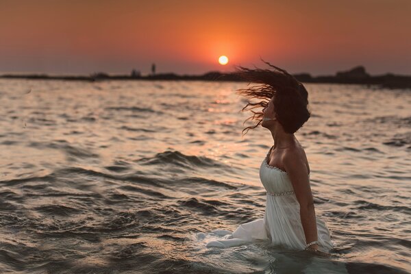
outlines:
[{"label": "wet white strapless dress with beaded trim, trailing in the water", "polygon": [[[299,203],[292,184],[285,171],[267,163],[269,153],[260,166],[260,180],[267,192],[264,218],[243,223],[234,232],[214,230],[213,234],[223,237],[221,240],[208,242],[206,247],[234,247],[256,240],[266,240],[273,246],[286,249],[303,250],[306,248],[306,236],[301,224]],[[319,249],[329,252],[332,249],[329,230],[318,216],[316,216],[316,225]]]}]

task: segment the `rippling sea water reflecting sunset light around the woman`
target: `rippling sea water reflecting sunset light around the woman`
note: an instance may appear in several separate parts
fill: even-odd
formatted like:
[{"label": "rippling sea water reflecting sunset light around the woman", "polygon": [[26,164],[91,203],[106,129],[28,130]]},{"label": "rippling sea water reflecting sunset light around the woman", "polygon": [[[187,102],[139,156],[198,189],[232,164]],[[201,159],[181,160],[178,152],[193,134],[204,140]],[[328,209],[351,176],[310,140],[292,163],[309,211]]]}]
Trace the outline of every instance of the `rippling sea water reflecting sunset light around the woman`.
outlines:
[{"label": "rippling sea water reflecting sunset light around the woman", "polygon": [[0,273],[411,273],[410,90],[305,85],[331,258],[204,246],[264,215],[246,86],[0,79]]}]

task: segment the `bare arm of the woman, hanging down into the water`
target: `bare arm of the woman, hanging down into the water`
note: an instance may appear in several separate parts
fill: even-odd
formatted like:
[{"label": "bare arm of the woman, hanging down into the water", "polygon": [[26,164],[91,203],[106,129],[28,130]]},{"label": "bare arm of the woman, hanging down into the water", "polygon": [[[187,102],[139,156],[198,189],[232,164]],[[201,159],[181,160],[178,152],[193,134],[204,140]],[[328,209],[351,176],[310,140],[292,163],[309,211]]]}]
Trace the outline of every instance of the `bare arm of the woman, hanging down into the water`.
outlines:
[{"label": "bare arm of the woman, hanging down into the water", "polygon": [[[300,218],[306,235],[306,243],[318,240],[314,199],[312,198],[306,163],[297,150],[285,153],[282,160],[294,188],[295,197],[297,197],[300,205]],[[311,245],[310,247],[318,249],[318,245]]]}]

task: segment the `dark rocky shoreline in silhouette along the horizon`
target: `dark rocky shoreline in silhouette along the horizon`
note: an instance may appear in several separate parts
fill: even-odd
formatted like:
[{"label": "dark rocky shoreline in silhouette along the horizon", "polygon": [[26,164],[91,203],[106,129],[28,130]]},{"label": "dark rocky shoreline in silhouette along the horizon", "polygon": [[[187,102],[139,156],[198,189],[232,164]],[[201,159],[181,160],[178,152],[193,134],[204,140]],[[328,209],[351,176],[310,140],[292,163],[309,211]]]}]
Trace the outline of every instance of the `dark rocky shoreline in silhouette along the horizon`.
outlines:
[{"label": "dark rocky shoreline in silhouette along the horizon", "polygon": [[[312,77],[309,73],[293,75],[298,81],[304,83],[323,84],[364,84],[377,85],[382,88],[410,88],[411,76],[394,75],[387,73],[384,75],[371,76],[366,73],[363,66],[357,66],[349,71],[342,71],[336,75],[325,75]],[[212,71],[203,75],[177,75],[175,73],[158,73],[155,75],[108,75],[106,73],[94,73],[89,76],[68,76],[68,75],[47,75],[47,74],[5,74],[0,78],[6,79],[45,79],[45,80],[65,80],[65,81],[87,81],[98,82],[104,80],[191,80],[191,81],[229,81],[245,82],[235,73],[220,73]]]}]

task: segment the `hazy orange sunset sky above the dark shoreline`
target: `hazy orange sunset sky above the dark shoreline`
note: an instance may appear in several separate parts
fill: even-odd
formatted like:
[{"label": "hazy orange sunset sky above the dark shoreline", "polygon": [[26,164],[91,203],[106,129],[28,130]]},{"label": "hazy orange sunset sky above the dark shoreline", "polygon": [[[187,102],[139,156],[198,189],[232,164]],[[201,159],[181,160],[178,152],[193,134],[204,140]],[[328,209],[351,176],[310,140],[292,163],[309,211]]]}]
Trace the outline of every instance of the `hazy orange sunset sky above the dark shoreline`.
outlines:
[{"label": "hazy orange sunset sky above the dark shoreline", "polygon": [[0,73],[199,74],[260,56],[290,73],[411,75],[411,0],[0,0]]}]

